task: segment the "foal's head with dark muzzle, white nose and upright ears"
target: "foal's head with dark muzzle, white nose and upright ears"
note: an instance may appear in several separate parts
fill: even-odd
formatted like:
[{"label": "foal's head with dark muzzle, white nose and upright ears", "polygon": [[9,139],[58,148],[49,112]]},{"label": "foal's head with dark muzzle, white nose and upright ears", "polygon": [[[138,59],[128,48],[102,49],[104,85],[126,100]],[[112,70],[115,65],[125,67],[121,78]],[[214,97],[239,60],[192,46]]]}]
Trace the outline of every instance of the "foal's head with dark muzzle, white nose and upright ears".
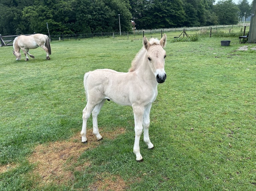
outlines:
[{"label": "foal's head with dark muzzle, white nose and upright ears", "polygon": [[166,79],[166,73],[164,71],[164,60],[166,53],[164,47],[166,44],[166,34],[163,35],[161,40],[143,38],[143,46],[147,50],[148,64],[156,77],[156,81],[161,84]]}]

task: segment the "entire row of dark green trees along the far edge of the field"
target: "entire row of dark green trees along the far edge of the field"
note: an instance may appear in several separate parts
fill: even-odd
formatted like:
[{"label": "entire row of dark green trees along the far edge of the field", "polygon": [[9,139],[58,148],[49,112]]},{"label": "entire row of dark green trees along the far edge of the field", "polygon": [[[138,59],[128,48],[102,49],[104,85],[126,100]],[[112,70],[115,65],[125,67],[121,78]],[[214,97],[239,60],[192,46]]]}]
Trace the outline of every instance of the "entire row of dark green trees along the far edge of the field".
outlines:
[{"label": "entire row of dark green trees along the far edge of the field", "polygon": [[[1,0],[0,34],[83,34],[237,24],[247,0]],[[120,16],[118,16],[120,14]]]}]

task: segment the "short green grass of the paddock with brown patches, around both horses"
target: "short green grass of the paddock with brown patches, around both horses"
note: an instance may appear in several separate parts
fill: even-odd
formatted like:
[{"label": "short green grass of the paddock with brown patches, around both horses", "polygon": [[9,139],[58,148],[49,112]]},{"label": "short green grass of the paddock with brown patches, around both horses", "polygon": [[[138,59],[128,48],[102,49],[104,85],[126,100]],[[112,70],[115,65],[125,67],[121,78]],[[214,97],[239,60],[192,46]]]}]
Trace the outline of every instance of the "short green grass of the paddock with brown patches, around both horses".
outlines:
[{"label": "short green grass of the paddock with brown patches, around both horses", "polygon": [[141,137],[140,163],[131,107],[106,101],[102,141],[92,118],[87,144],[80,131],[85,72],[127,72],[141,36],[53,41],[50,61],[41,48],[26,62],[0,47],[0,190],[256,190],[256,44],[171,38],[150,113],[155,148]]}]

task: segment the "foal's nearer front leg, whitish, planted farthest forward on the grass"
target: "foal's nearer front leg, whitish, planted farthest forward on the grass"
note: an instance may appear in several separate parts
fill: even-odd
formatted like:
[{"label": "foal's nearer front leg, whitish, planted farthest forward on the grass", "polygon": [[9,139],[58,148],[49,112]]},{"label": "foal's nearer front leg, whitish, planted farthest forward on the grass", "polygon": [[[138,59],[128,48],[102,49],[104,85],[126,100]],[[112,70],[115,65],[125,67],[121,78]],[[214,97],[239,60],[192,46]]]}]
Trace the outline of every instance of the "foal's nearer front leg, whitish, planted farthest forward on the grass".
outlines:
[{"label": "foal's nearer front leg, whitish, planted farthest forward on the grass", "polygon": [[133,113],[134,113],[134,130],[135,130],[135,140],[133,146],[133,152],[136,155],[136,160],[141,161],[142,156],[140,154],[140,135],[142,133],[142,120],[143,120],[143,113],[144,108],[141,106],[132,106]]}]

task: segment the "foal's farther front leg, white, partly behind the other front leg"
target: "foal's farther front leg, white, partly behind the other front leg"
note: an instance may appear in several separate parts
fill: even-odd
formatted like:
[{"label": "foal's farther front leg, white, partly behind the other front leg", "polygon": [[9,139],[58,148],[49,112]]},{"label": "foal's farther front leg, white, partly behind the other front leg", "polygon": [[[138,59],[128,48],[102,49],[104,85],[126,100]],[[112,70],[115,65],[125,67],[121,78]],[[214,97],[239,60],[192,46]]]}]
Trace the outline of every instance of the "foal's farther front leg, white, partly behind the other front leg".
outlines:
[{"label": "foal's farther front leg, white, partly behind the other front leg", "polygon": [[150,118],[149,118],[149,113],[150,113],[150,109],[151,109],[151,105],[149,104],[144,111],[144,115],[143,115],[143,140],[144,142],[147,144],[148,148],[154,148],[154,145],[151,143],[150,139],[149,139],[149,134],[148,134],[148,128],[149,128],[149,123],[150,123]]}]

